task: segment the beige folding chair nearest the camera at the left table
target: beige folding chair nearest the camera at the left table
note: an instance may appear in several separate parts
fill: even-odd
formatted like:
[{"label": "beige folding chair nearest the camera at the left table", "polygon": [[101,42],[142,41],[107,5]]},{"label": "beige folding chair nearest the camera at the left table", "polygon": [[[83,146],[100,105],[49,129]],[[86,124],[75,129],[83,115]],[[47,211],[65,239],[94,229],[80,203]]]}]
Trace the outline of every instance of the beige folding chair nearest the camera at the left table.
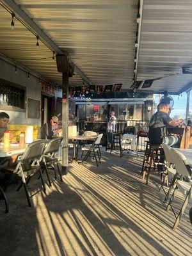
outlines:
[{"label": "beige folding chair nearest the camera at the left table", "polygon": [[3,168],[1,172],[7,173],[10,175],[10,181],[12,180],[13,174],[17,174],[21,177],[22,182],[17,189],[17,191],[20,190],[22,186],[24,186],[24,190],[26,193],[26,197],[28,200],[28,205],[31,206],[31,201],[28,192],[28,183],[29,180],[31,180],[31,177],[36,173],[40,173],[40,178],[42,181],[42,187],[45,192],[45,184],[42,177],[42,171],[40,166],[40,158],[42,157],[42,154],[44,153],[45,145],[47,144],[47,141],[45,140],[38,140],[30,143],[28,147],[26,148],[24,154],[20,157],[17,164],[6,166],[6,168]]}]

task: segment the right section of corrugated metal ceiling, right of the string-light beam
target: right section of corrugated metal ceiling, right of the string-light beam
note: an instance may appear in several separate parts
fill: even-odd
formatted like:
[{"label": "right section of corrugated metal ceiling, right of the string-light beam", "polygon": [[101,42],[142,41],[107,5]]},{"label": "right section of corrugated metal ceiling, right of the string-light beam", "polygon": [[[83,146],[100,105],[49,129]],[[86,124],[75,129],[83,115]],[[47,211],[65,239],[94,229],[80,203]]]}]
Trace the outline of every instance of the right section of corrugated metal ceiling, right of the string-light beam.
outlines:
[{"label": "right section of corrugated metal ceiling, right of the string-light beam", "polygon": [[192,1],[145,0],[143,5],[137,79],[153,79],[151,88],[179,92],[192,82],[182,67],[192,67]]}]

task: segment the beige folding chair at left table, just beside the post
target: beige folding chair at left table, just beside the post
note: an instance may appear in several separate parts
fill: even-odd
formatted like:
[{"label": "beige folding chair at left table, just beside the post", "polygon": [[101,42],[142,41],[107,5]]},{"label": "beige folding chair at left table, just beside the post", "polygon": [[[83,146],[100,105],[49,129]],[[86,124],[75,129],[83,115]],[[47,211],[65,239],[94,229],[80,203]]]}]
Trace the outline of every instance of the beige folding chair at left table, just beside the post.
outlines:
[{"label": "beige folding chair at left table, just beside the post", "polygon": [[54,170],[55,179],[57,177],[54,164],[57,165],[60,179],[61,179],[61,181],[63,181],[62,175],[60,172],[59,161],[58,161],[58,151],[60,150],[60,145],[61,145],[62,140],[63,140],[63,138],[60,137],[60,138],[55,138],[55,139],[47,141],[47,146],[45,147],[45,150],[44,150],[44,156],[42,157],[41,165],[47,174],[49,186],[51,186],[51,180],[49,178],[49,173],[48,173],[48,169],[50,168],[50,166]]}]

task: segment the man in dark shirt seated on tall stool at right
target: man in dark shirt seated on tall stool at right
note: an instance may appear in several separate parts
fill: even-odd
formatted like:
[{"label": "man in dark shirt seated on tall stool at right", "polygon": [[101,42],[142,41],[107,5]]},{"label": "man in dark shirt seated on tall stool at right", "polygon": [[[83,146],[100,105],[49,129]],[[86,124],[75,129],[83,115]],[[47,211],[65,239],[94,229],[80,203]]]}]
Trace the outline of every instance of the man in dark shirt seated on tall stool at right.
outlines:
[{"label": "man in dark shirt seated on tall stool at right", "polygon": [[170,100],[163,99],[159,103],[157,112],[152,116],[149,124],[148,138],[151,145],[161,145],[164,136],[167,135],[167,127],[175,127],[183,122],[183,119],[177,121],[170,118]]}]

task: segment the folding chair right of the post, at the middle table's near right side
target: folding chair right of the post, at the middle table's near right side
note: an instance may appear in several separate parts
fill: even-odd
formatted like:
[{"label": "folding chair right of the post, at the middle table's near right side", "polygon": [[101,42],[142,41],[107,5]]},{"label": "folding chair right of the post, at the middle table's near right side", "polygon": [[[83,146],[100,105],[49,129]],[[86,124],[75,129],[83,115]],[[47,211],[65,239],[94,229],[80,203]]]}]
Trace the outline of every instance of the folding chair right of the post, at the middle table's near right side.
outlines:
[{"label": "folding chair right of the post, at the middle table's near right side", "polygon": [[[86,159],[88,159],[88,157],[92,156],[91,154],[93,154],[93,159],[95,159],[97,167],[98,165],[98,161],[97,161],[97,156],[99,158],[99,162],[100,162],[100,158],[101,158],[101,154],[100,154],[100,148],[99,148],[99,144],[100,141],[102,139],[102,133],[98,135],[97,139],[90,145],[86,145],[85,147],[81,148],[82,150],[82,154],[81,154],[81,158],[84,155],[84,152],[86,152],[86,154],[84,155],[82,161],[78,161],[79,164],[83,163],[84,161],[86,161]],[[97,153],[97,155],[96,155]]]}]

